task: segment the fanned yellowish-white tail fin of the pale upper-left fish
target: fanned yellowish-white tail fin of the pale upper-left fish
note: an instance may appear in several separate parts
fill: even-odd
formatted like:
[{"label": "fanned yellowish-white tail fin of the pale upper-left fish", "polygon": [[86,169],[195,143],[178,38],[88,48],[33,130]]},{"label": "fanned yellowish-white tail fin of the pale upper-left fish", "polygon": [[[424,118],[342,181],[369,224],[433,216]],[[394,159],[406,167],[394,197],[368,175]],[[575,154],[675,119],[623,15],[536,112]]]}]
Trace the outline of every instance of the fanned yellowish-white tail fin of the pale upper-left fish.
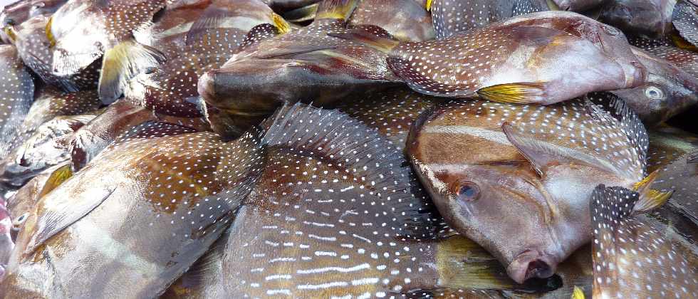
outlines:
[{"label": "fanned yellowish-white tail fin of the pale upper-left fish", "polygon": [[102,103],[109,105],[120,98],[128,80],[139,73],[165,63],[165,55],[150,46],[125,41],[104,54],[99,80]]}]

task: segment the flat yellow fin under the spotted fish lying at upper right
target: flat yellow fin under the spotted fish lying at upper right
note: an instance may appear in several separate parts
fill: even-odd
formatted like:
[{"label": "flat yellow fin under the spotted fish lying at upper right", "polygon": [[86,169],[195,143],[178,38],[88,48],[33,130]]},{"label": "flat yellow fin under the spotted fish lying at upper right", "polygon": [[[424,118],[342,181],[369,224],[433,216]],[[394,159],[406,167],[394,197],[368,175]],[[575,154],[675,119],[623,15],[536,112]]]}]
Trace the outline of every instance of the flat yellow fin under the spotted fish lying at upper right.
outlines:
[{"label": "flat yellow fin under the spotted fish lying at upper right", "polygon": [[480,98],[506,104],[548,104],[546,83],[507,83],[477,90]]}]

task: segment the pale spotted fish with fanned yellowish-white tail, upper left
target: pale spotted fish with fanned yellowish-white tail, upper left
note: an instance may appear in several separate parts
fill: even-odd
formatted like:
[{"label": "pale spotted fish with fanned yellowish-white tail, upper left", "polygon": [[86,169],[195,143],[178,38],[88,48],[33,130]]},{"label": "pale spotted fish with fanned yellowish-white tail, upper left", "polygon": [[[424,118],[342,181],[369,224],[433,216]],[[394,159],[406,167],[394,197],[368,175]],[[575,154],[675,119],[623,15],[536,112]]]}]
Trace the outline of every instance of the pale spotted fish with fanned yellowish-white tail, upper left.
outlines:
[{"label": "pale spotted fish with fanned yellowish-white tail, upper left", "polygon": [[127,80],[165,61],[160,51],[137,43],[133,34],[149,26],[166,4],[167,0],[68,1],[46,26],[53,51],[51,72],[71,76],[101,61],[100,100],[113,103]]}]

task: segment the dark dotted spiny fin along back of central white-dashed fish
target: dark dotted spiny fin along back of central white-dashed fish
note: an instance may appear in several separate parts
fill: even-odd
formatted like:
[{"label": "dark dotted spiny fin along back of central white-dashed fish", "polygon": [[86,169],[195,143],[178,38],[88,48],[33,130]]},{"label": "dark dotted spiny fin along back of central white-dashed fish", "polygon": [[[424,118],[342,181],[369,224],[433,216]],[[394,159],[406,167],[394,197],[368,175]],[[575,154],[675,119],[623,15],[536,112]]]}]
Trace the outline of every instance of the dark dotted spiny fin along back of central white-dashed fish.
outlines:
[{"label": "dark dotted spiny fin along back of central white-dashed fish", "polygon": [[[263,137],[266,147],[321,151],[323,157],[341,157],[343,167],[356,169],[376,190],[396,190],[380,194],[392,203],[392,217],[405,238],[436,238],[443,229],[433,205],[416,188],[415,176],[404,155],[377,130],[339,112],[302,103],[281,107],[264,122],[269,127]],[[373,169],[370,171],[367,169]]]}]

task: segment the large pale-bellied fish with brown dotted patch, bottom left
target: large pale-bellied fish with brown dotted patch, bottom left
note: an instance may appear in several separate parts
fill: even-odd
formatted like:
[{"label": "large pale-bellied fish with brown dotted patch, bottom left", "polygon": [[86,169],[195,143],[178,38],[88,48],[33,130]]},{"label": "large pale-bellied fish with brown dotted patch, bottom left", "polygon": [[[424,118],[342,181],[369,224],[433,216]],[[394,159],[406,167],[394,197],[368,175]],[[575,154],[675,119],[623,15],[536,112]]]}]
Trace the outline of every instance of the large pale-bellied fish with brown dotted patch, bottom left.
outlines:
[{"label": "large pale-bellied fish with brown dotted patch, bottom left", "polygon": [[[257,139],[165,122],[130,130],[40,199],[0,295],[157,297],[231,223],[259,177]],[[87,260],[100,263],[75,262]]]}]

